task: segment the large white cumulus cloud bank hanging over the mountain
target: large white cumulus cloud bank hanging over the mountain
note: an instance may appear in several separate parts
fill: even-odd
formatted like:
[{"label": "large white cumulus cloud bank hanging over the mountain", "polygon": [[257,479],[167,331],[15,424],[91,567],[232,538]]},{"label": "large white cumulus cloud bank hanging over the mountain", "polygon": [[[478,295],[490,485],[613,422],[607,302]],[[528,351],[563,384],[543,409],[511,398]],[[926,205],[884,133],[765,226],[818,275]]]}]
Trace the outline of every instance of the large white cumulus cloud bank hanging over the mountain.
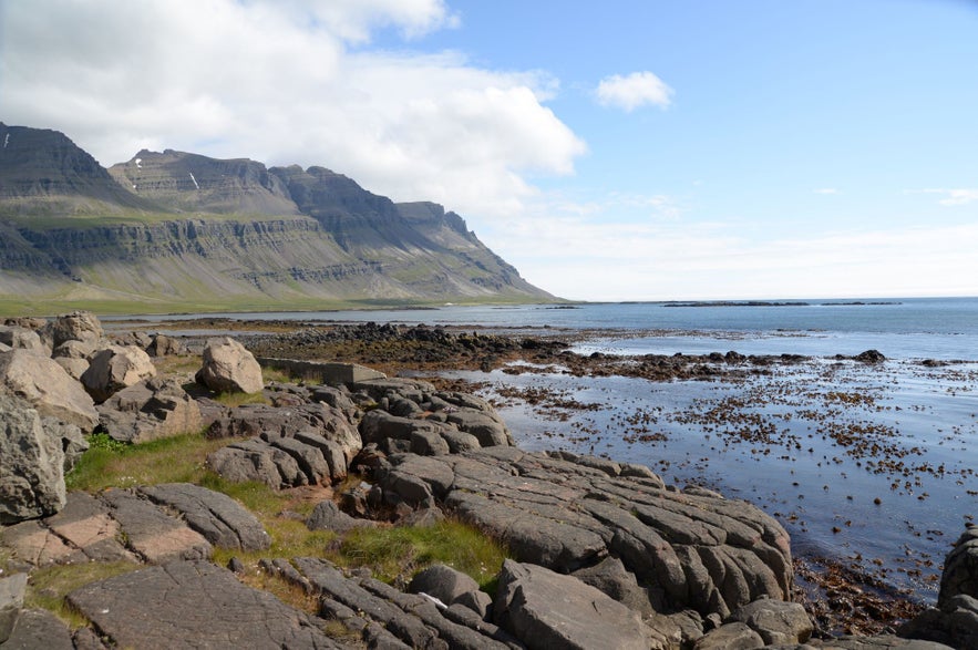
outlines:
[{"label": "large white cumulus cloud bank hanging over the mountain", "polygon": [[106,166],[141,148],[318,164],[395,200],[509,214],[527,174],[569,174],[585,151],[545,105],[556,81],[366,45],[457,20],[443,0],[4,2],[0,115]]}]

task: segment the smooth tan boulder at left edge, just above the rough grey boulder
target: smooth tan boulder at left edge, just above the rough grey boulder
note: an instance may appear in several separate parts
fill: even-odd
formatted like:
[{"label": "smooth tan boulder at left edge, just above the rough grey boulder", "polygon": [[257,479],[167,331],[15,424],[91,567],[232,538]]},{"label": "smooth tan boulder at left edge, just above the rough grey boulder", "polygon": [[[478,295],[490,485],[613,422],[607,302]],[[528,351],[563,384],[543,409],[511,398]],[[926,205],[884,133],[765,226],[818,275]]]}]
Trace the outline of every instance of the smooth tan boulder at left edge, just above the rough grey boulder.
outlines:
[{"label": "smooth tan boulder at left edge, just above the rough grey boulder", "polygon": [[92,398],[52,359],[24,350],[0,352],[0,389],[23,398],[42,416],[90,433],[99,423]]}]

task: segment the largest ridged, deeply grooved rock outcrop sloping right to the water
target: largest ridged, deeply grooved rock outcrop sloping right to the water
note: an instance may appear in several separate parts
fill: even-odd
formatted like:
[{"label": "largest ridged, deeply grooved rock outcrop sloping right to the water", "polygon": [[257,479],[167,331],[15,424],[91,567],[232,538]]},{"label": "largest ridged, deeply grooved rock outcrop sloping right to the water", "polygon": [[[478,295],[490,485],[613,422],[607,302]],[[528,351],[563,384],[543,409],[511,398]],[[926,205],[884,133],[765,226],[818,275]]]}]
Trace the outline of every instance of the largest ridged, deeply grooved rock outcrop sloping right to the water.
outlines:
[{"label": "largest ridged, deeply grooved rock outcrop sloping right to the water", "polygon": [[569,572],[620,558],[649,586],[657,611],[690,608],[725,619],[762,597],[790,598],[789,536],[759,508],[560,456],[514,447],[397,454],[375,478],[388,504],[453,510],[519,561]]}]

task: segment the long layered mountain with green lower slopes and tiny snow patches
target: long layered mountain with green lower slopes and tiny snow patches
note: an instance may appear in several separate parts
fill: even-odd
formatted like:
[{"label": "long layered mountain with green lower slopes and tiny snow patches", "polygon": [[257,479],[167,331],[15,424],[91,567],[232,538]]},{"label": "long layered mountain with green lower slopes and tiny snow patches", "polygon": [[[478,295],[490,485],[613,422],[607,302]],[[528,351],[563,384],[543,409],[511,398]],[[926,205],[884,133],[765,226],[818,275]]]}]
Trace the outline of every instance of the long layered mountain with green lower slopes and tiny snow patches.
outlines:
[{"label": "long layered mountain with green lower slopes and tiny snow patches", "polygon": [[59,132],[0,123],[3,311],[552,300],[437,204],[172,149],[105,169]]}]

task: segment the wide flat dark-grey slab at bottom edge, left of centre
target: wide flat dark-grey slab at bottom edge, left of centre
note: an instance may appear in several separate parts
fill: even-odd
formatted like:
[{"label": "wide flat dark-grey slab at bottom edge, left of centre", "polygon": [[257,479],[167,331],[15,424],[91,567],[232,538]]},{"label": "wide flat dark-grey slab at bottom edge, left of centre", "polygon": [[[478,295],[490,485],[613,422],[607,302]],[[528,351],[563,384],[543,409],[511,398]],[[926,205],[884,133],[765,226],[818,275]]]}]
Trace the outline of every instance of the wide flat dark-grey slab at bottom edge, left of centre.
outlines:
[{"label": "wide flat dark-grey slab at bottom edge, left of centre", "polygon": [[341,648],[308,615],[207,561],[175,561],[68,595],[120,648]]}]

